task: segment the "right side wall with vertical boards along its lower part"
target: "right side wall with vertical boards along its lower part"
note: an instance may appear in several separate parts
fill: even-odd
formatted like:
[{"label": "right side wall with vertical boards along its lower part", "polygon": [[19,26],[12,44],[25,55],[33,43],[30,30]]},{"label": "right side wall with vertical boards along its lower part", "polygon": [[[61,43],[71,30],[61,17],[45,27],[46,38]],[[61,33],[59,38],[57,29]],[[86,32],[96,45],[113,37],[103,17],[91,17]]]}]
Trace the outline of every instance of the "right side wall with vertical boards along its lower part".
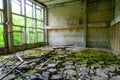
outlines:
[{"label": "right side wall with vertical boards along its lower part", "polygon": [[111,48],[120,52],[120,0],[115,0],[114,20],[111,26]]}]

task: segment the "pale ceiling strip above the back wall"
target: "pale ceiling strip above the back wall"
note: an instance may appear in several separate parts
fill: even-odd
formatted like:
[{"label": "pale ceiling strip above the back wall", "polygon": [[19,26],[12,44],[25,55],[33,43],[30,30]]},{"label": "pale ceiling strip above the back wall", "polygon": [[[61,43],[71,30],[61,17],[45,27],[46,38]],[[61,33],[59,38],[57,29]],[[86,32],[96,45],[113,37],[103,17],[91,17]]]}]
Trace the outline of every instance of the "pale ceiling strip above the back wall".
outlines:
[{"label": "pale ceiling strip above the back wall", "polygon": [[48,8],[82,3],[82,0],[35,0]]}]

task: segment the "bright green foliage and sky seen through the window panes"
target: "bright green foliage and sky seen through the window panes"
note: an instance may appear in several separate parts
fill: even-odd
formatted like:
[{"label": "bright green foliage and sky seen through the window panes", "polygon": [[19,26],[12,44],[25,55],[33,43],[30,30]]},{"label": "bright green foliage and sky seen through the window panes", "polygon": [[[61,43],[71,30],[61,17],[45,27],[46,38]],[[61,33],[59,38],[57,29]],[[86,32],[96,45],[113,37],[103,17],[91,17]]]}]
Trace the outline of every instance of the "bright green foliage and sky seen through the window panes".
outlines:
[{"label": "bright green foliage and sky seen through the window panes", "polygon": [[[3,0],[0,0],[0,4],[1,4],[0,9],[3,9],[1,1],[3,1]],[[36,6],[36,9],[34,9],[36,11],[32,11],[32,7],[27,5],[26,6],[26,16],[27,17],[25,17],[25,16],[23,16],[24,15],[23,7],[22,7],[22,13],[21,13],[20,5],[16,4],[14,1],[12,1],[11,3],[12,3],[12,13],[16,13],[16,14],[12,14],[14,45],[22,45],[23,37],[27,38],[28,43],[34,43],[34,40],[35,40],[35,42],[42,42],[43,41],[43,36],[42,36],[43,32],[41,32],[40,29],[38,29],[38,28],[43,28],[43,22],[41,21],[41,18],[42,18],[41,10],[40,10],[41,8]],[[34,14],[33,16],[32,16],[32,12]],[[19,15],[17,15],[17,14],[19,14]],[[35,17],[35,15],[36,15],[36,17]],[[30,17],[30,18],[28,18],[28,17]],[[26,18],[26,26],[25,26],[25,18]],[[31,18],[33,18],[33,19],[31,19]],[[2,25],[2,23],[3,23],[3,11],[0,11],[0,47],[5,46],[4,36],[3,36],[4,26]],[[14,26],[14,25],[16,25],[16,26]],[[20,27],[20,26],[22,26],[22,27]],[[23,33],[25,33],[25,27],[27,27],[28,29],[26,29],[26,34],[22,35]],[[34,28],[30,28],[30,27],[34,27]]]}]

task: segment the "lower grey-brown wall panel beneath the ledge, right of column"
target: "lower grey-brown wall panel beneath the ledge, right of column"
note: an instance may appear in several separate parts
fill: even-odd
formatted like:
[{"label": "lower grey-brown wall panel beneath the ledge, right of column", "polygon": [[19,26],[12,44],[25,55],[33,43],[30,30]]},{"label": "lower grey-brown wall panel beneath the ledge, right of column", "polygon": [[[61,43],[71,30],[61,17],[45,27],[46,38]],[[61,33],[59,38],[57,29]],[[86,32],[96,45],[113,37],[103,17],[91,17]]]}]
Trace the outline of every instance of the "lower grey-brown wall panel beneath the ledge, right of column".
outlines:
[{"label": "lower grey-brown wall panel beneath the ledge, right of column", "polygon": [[88,28],[87,46],[109,48],[109,28],[108,27]]}]

